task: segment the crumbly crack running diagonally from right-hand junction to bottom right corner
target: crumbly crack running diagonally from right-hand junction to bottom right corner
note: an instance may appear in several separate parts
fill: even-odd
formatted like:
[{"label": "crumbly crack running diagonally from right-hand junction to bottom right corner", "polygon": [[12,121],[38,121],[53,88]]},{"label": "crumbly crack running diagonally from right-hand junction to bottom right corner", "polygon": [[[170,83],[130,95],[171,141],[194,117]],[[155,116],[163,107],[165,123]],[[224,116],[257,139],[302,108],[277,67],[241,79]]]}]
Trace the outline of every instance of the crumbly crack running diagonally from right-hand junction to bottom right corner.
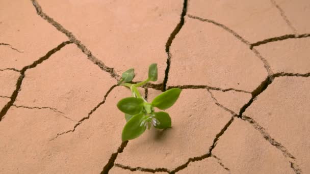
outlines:
[{"label": "crumbly crack running diagonally from right-hand junction to bottom right corner", "polygon": [[262,136],[275,148],[277,148],[278,150],[280,150],[282,152],[282,154],[286,157],[289,158],[289,162],[291,164],[292,169],[295,171],[295,173],[299,174],[301,173],[301,169],[299,168],[299,166],[296,164],[296,158],[284,147],[282,146],[281,143],[279,143],[278,141],[276,141],[275,139],[273,139],[269,133],[266,132],[265,128],[263,128],[262,126],[260,126],[256,121],[254,121],[252,118],[247,117],[246,115],[242,115],[241,118],[243,121],[246,121],[248,123],[250,123],[256,130],[258,130]]}]

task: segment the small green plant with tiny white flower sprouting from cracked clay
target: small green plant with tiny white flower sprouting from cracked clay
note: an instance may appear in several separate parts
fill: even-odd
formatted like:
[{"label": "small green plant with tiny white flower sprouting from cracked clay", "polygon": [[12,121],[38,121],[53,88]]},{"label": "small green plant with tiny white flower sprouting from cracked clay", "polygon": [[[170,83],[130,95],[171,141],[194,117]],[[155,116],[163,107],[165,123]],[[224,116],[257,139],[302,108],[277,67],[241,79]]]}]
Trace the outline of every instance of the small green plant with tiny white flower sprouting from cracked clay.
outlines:
[{"label": "small green plant with tiny white flower sprouting from cracked clay", "polygon": [[151,126],[157,129],[171,128],[171,118],[167,112],[155,112],[154,107],[165,110],[171,107],[181,93],[178,88],[170,89],[148,103],[141,97],[138,87],[149,81],[157,81],[157,64],[151,64],[148,69],[148,78],[137,84],[129,83],[135,77],[134,69],[129,69],[122,74],[119,85],[126,86],[132,92],[133,97],[121,99],[117,103],[119,110],[125,113],[126,125],[122,132],[122,140],[126,141],[139,137]]}]

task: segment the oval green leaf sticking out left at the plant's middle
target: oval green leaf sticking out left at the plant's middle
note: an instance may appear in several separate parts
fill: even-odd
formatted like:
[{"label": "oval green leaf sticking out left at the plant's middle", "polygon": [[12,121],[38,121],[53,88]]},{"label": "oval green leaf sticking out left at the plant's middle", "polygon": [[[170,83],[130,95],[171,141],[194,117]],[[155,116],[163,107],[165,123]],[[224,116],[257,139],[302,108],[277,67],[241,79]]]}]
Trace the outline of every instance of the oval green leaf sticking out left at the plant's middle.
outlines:
[{"label": "oval green leaf sticking out left at the plant's middle", "polygon": [[140,113],[142,110],[143,100],[135,97],[127,97],[121,99],[117,103],[117,107],[124,113],[128,113],[131,115]]}]

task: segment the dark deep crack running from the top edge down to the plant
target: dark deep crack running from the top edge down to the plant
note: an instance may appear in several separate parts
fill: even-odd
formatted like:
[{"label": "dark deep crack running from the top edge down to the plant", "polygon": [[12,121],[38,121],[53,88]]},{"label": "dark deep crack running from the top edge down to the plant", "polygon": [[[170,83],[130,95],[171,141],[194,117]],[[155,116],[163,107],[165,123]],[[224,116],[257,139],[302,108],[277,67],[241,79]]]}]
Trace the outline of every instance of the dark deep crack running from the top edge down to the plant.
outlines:
[{"label": "dark deep crack running from the top edge down to the plant", "polygon": [[165,77],[163,81],[163,91],[166,91],[166,85],[168,81],[168,75],[169,75],[170,64],[171,64],[170,46],[175,36],[179,33],[179,31],[182,29],[184,25],[184,16],[186,15],[186,12],[187,12],[187,0],[184,0],[182,13],[180,15],[180,22],[175,26],[174,30],[170,34],[170,37],[168,38],[167,43],[166,43],[166,52],[167,52],[168,57],[167,57],[167,67],[165,70]]}]

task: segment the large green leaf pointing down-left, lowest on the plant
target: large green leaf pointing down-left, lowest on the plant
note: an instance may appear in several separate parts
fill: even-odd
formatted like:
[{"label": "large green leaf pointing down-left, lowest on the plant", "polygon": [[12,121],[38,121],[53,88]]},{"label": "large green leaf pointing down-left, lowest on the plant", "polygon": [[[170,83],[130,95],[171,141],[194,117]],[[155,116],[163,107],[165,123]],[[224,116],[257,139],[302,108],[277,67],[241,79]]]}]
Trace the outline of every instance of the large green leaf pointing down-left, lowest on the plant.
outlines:
[{"label": "large green leaf pointing down-left, lowest on the plant", "polygon": [[134,115],[125,125],[122,132],[122,140],[135,139],[140,136],[146,129],[144,125],[140,126],[143,121],[144,114],[139,113]]}]

